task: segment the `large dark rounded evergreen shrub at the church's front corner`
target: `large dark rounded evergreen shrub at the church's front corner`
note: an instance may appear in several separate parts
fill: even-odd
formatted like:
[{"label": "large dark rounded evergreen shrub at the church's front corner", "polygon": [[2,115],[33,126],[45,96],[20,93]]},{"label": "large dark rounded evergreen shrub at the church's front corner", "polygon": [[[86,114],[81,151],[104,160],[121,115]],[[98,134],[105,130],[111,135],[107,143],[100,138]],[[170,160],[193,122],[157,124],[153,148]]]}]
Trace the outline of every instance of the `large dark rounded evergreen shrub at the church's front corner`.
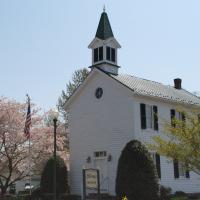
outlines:
[{"label": "large dark rounded evergreen shrub at the church's front corner", "polygon": [[139,141],[130,141],[118,161],[117,198],[157,200],[158,191],[158,180],[150,154]]}]

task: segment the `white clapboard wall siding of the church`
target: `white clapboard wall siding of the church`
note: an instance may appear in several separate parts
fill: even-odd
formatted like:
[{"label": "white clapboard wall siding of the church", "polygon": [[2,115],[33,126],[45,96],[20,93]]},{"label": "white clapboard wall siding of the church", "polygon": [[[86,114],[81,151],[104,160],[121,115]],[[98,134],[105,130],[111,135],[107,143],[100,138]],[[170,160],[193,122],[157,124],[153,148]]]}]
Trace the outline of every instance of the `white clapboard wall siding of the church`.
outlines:
[{"label": "white clapboard wall siding of the church", "polygon": [[[131,90],[108,75],[98,70],[92,73],[69,106],[71,191],[81,195],[82,168],[95,167],[94,152],[106,151],[112,160],[102,160],[106,165],[104,178],[108,179],[107,192],[114,195],[118,159],[126,143],[132,139],[150,143],[153,136],[162,135],[163,120],[170,120],[170,109],[176,104],[134,96]],[[95,97],[97,87],[103,89],[100,99]],[[141,130],[140,103],[158,107],[158,132]],[[86,162],[88,156],[91,163]],[[164,157],[161,157],[161,176],[161,184],[171,187],[173,191],[199,192],[199,176],[190,173],[190,179],[175,180],[173,163]]]}]

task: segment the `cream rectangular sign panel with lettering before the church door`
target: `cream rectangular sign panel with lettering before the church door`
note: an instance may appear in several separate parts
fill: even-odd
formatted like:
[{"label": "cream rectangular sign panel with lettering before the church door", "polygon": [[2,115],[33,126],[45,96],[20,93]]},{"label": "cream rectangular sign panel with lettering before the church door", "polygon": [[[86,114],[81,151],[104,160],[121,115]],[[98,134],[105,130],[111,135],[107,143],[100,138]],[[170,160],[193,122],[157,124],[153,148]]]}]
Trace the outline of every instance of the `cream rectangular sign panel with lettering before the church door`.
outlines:
[{"label": "cream rectangular sign panel with lettering before the church door", "polygon": [[85,186],[88,189],[98,189],[98,171],[96,169],[85,170]]}]

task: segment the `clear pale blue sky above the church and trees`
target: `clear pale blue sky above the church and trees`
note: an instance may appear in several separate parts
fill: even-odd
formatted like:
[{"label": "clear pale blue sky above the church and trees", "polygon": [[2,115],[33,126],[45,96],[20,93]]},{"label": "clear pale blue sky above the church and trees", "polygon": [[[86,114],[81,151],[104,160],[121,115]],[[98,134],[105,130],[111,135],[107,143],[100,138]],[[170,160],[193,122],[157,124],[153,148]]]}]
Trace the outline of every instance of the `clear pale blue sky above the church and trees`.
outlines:
[{"label": "clear pale blue sky above the church and trees", "polygon": [[91,65],[104,4],[120,73],[200,91],[199,0],[1,0],[0,95],[55,107],[74,70]]}]

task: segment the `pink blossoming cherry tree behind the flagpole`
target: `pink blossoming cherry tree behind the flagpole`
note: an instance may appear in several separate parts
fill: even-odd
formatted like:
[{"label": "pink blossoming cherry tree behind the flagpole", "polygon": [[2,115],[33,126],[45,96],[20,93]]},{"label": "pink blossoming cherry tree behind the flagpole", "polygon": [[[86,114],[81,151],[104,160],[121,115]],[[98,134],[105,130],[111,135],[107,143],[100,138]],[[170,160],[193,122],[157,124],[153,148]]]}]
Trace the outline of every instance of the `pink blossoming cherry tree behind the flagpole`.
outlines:
[{"label": "pink blossoming cherry tree behind the flagpole", "polygon": [[[24,135],[26,104],[0,97],[0,190],[4,195],[13,183],[27,177],[30,173],[40,174],[46,160],[53,152],[53,127],[47,126],[44,119],[49,113],[39,114],[31,106],[32,126],[29,143]],[[64,125],[57,129],[58,155],[67,159]],[[30,166],[30,168],[29,168]]]}]

